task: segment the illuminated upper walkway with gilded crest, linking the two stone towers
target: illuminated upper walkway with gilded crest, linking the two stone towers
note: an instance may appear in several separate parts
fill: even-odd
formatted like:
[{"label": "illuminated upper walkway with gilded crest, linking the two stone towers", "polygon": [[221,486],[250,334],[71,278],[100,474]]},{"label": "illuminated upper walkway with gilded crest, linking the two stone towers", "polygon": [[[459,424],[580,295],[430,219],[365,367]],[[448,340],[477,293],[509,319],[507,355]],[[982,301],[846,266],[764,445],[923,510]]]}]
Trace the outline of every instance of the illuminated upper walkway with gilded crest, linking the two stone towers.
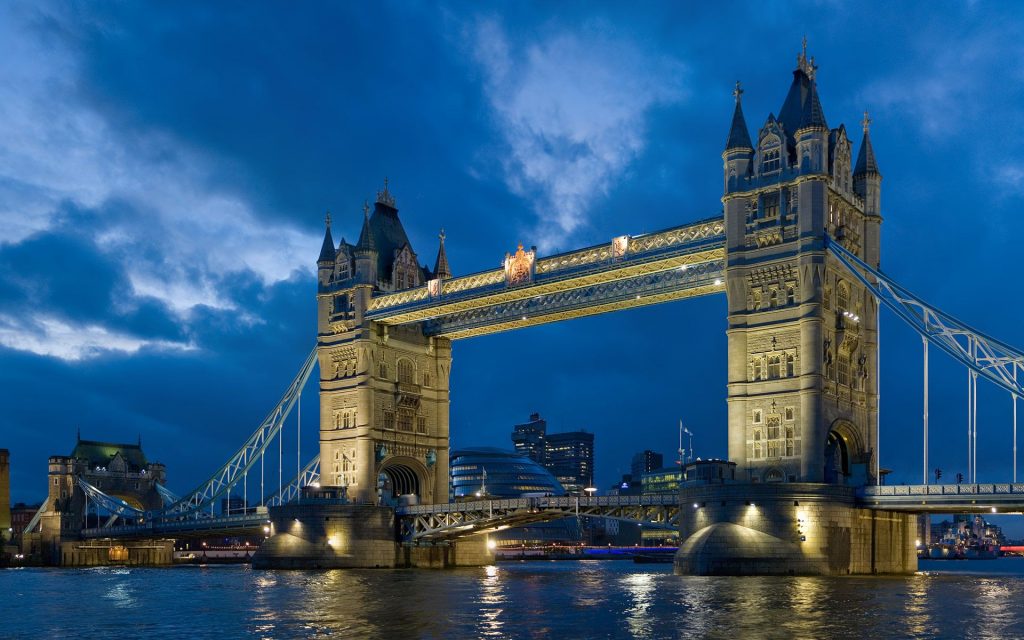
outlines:
[{"label": "illuminated upper walkway with gilded crest, linking the two stone towers", "polygon": [[545,258],[520,249],[504,268],[376,296],[367,317],[468,338],[718,293],[724,279],[719,216]]}]

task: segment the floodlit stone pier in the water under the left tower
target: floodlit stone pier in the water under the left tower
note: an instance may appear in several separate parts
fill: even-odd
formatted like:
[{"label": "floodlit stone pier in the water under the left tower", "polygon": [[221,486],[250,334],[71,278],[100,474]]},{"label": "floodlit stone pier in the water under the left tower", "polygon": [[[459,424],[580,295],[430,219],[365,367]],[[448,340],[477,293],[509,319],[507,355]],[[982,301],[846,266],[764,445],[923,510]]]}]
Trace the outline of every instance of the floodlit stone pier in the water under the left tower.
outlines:
[{"label": "floodlit stone pier in the water under the left tower", "polygon": [[485,536],[403,545],[390,507],[290,504],[270,509],[270,538],[254,568],[450,568],[495,561]]}]

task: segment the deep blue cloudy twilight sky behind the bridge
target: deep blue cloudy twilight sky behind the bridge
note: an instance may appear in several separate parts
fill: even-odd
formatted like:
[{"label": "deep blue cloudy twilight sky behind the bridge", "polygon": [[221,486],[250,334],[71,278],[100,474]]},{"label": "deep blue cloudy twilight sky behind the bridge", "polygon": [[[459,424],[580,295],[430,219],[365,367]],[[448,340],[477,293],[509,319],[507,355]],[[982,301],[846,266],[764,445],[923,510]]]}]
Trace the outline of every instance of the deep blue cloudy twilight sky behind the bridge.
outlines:
[{"label": "deep blue cloudy twilight sky behind the bridge", "polygon": [[[301,9],[301,10],[300,10]],[[421,262],[549,253],[716,215],[732,86],[752,133],[801,38],[831,126],[869,110],[883,267],[1024,345],[1024,9],[1015,3],[5,3],[0,446],[134,441],[183,492],[270,409],[314,340],[324,212],[358,233],[391,179]],[[883,316],[882,464],[921,478],[921,341]],[[531,412],[596,435],[597,480],[676,425],[724,456],[725,299],[455,345],[454,446]],[[933,358],[932,466],[966,471],[966,374]],[[310,386],[310,391],[313,387]],[[304,447],[315,446],[315,394]],[[1011,401],[985,385],[982,480]],[[1022,472],[1024,475],[1024,472]]]}]

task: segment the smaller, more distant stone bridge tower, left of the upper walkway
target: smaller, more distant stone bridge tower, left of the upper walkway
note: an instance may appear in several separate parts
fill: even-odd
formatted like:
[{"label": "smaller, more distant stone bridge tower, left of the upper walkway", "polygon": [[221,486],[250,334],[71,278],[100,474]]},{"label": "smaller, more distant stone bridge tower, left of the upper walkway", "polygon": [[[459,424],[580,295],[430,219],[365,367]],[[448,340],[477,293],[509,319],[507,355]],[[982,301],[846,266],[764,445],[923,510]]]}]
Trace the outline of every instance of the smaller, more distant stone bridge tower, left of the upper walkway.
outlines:
[{"label": "smaller, more distant stone bridge tower, left of the upper walkway", "polygon": [[375,295],[451,276],[443,232],[434,269],[421,266],[385,180],[355,245],[335,246],[328,215],[316,266],[321,483],[359,503],[379,482],[385,498],[447,502],[451,341],[367,318]]}]

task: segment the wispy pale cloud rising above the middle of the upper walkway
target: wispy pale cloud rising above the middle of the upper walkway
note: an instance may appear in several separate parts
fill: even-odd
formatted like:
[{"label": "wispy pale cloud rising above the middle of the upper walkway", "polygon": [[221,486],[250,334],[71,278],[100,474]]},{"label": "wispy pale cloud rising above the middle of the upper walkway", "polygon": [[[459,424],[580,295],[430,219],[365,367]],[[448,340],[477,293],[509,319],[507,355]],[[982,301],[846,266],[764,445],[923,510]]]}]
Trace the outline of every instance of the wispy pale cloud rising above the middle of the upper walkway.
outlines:
[{"label": "wispy pale cloud rising above the middle of the upper walkway", "polygon": [[685,96],[685,69],[603,25],[514,42],[481,20],[472,41],[508,144],[503,178],[541,218],[542,250],[559,246],[643,152],[649,110]]}]

